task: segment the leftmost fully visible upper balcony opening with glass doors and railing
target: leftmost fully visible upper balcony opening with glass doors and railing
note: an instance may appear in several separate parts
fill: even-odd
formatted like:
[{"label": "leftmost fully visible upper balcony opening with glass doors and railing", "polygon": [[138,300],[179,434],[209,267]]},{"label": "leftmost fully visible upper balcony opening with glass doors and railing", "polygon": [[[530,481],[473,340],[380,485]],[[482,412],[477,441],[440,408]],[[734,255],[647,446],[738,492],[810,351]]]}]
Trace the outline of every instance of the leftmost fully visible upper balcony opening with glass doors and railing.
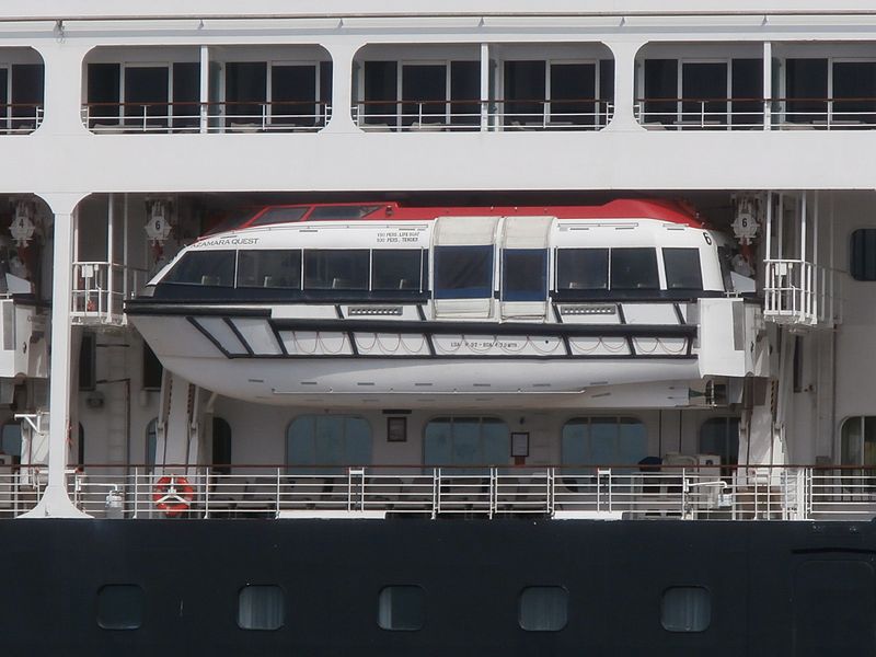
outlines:
[{"label": "leftmost fully visible upper balcony opening with glass doors and railing", "polygon": [[313,132],[331,118],[319,47],[96,48],[82,123],[95,134]]}]

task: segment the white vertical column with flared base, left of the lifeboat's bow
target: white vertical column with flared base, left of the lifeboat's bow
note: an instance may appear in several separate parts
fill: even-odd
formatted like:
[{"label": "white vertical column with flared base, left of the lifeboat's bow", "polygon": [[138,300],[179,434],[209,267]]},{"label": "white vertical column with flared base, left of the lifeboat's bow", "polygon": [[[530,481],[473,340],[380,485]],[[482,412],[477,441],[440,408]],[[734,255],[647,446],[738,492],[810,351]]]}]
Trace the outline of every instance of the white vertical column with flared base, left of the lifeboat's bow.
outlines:
[{"label": "white vertical column with flared base, left of the lifeboat's bow", "polygon": [[55,211],[51,279],[51,358],[49,361],[48,485],[36,507],[22,517],[85,517],[67,494],[67,439],[70,431],[70,385],[72,372],[72,237],[76,200],[64,198]]}]

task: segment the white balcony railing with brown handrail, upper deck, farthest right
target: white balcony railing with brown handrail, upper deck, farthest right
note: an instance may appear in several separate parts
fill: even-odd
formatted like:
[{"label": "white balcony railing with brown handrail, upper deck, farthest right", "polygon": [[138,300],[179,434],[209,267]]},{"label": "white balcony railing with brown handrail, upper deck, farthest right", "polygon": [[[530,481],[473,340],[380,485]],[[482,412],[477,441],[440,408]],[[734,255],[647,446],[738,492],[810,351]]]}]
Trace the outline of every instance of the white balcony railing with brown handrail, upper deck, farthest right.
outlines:
[{"label": "white balcony railing with brown handrail, upper deck, farthest right", "polygon": [[652,130],[861,130],[876,128],[876,97],[636,99]]}]

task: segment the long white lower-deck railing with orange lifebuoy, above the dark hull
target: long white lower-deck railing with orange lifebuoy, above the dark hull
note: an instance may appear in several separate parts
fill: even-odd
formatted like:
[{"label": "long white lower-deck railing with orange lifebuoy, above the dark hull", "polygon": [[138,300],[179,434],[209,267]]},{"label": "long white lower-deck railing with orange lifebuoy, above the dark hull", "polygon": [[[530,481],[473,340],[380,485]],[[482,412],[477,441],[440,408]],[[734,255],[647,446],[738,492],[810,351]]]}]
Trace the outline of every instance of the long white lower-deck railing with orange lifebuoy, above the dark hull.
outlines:
[{"label": "long white lower-deck railing with orange lifebuoy, above the dark hull", "polygon": [[[532,517],[826,520],[876,517],[876,470],[788,466],[299,468],[87,465],[99,518]],[[32,508],[45,469],[0,469],[0,517]]]}]

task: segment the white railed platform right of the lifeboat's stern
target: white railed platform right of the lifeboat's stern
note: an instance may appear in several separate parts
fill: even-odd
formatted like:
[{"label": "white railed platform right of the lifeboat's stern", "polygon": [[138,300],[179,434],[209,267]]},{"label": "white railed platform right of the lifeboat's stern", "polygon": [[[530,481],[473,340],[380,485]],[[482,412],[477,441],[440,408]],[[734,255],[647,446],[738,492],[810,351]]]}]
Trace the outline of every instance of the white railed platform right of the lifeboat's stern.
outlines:
[{"label": "white railed platform right of the lifeboat's stern", "polygon": [[825,328],[842,322],[839,272],[802,260],[768,260],[765,265],[764,318]]}]

